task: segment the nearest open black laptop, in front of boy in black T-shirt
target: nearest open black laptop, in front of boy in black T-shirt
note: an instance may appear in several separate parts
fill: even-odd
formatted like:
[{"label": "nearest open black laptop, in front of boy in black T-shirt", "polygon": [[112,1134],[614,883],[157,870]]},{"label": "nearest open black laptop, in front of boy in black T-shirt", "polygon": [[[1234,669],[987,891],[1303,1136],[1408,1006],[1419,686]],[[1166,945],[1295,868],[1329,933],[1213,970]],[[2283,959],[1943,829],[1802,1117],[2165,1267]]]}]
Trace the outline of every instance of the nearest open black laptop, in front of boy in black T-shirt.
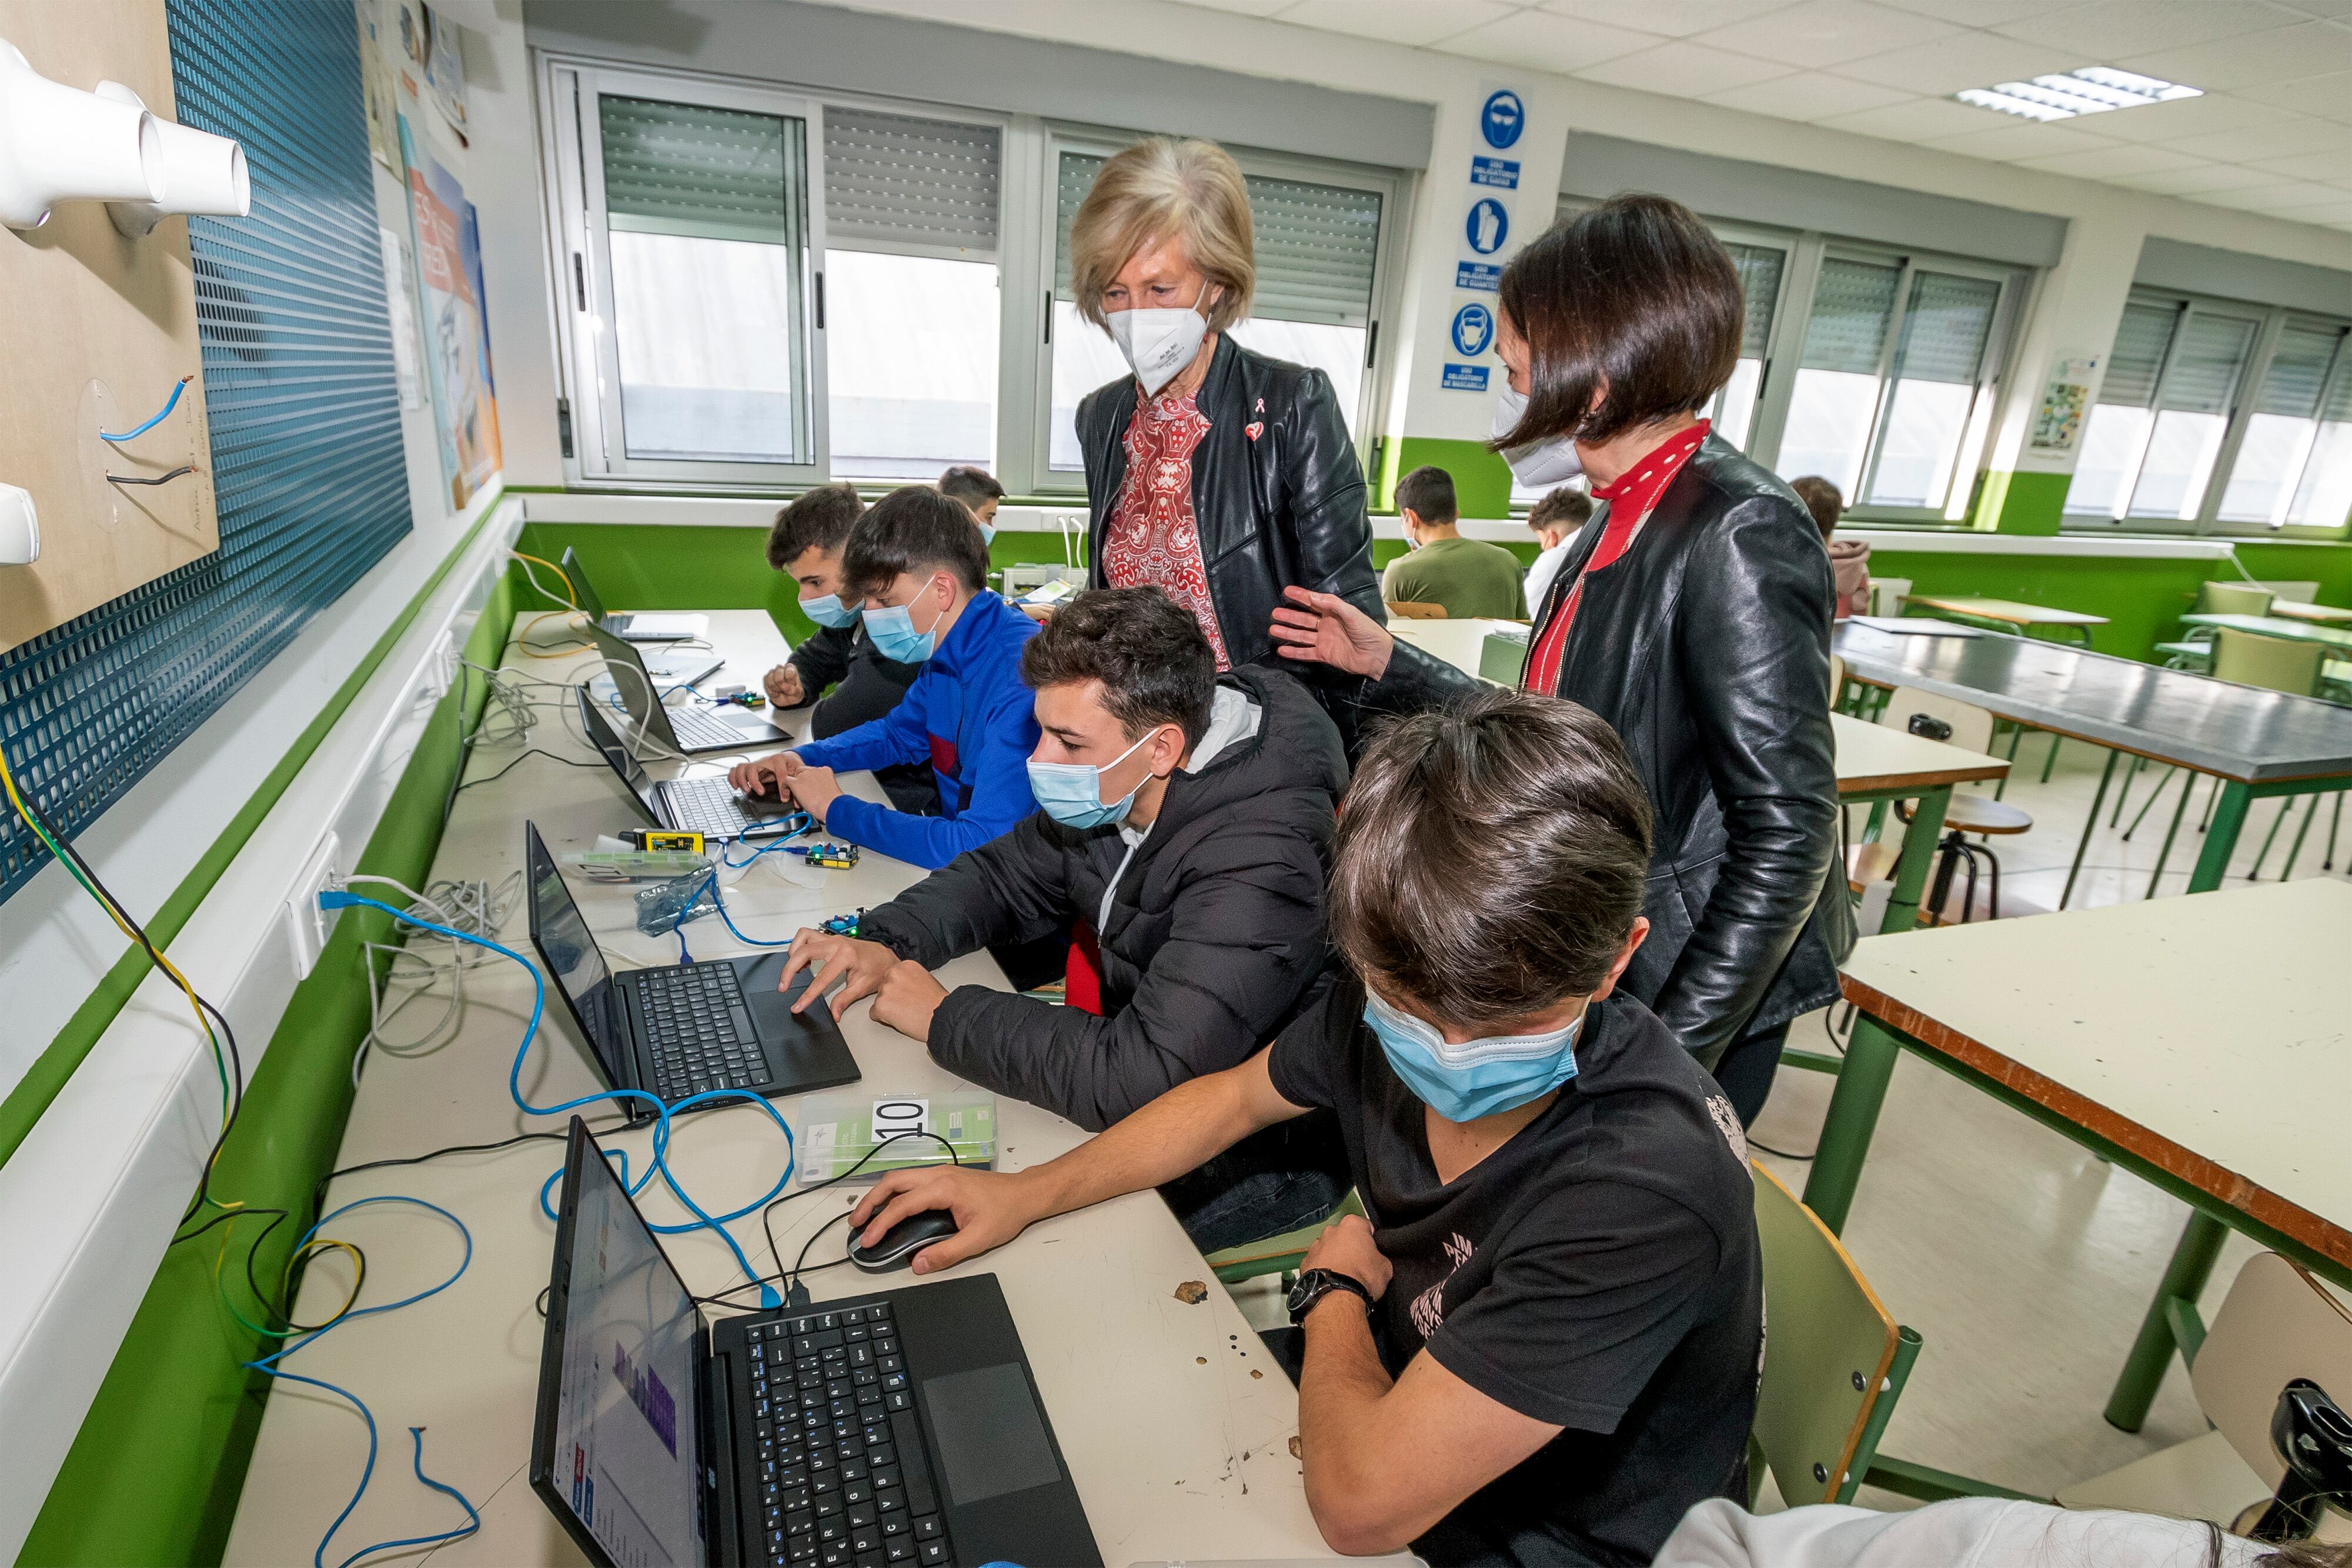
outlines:
[{"label": "nearest open black laptop, in front of boy in black T-shirt", "polygon": [[995,1274],[706,1324],[572,1119],[532,1488],[597,1568],[1098,1568]]}]

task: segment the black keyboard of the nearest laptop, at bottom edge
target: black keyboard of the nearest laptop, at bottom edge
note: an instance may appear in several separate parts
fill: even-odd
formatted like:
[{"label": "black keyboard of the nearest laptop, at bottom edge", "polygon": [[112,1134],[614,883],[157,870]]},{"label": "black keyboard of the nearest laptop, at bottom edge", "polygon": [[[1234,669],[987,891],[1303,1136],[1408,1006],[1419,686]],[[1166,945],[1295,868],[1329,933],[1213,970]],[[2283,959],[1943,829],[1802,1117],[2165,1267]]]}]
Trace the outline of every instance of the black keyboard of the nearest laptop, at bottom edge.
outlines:
[{"label": "black keyboard of the nearest laptop, at bottom edge", "polygon": [[953,1568],[889,1305],[774,1319],[748,1335],[764,1561]]}]

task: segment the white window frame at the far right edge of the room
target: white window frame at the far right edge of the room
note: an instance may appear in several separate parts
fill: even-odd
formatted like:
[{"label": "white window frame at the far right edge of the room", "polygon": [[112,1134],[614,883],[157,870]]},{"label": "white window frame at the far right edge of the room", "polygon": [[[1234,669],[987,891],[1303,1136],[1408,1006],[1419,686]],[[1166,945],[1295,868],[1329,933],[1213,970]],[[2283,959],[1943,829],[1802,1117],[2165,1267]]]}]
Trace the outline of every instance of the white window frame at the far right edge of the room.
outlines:
[{"label": "white window frame at the far right edge of the room", "polygon": [[[2147,400],[2147,435],[2140,437],[2140,451],[2136,465],[2131,468],[2122,494],[2124,515],[2112,512],[2074,512],[2060,510],[2058,527],[2065,534],[2187,534],[2187,536],[2218,536],[2218,538],[2343,538],[2345,527],[2352,520],[2338,517],[2336,522],[2230,522],[2220,517],[2223,496],[2230,494],[2230,477],[2237,470],[2237,458],[2246,444],[2246,430],[2253,425],[2256,404],[2263,395],[2263,383],[2270,381],[2270,364],[2279,350],[2279,341],[2286,336],[2291,324],[2310,324],[2333,329],[2336,357],[2328,362],[2328,374],[2319,383],[2319,404],[2314,421],[2326,414],[2328,395],[2345,381],[2352,378],[2352,317],[2326,315],[2321,310],[2300,310],[2293,306],[2265,306],[2249,299],[2227,299],[2220,294],[2194,294],[2190,289],[2152,289],[2133,284],[2126,303],[2133,306],[2161,306],[2173,310],[2173,331],[2164,343],[2164,362],[2157,369],[2157,383]],[[2256,322],[2253,346],[2246,350],[2246,360],[2239,367],[2237,386],[2230,390],[2227,423],[2223,425],[2220,444],[2213,451],[2213,473],[2206,475],[2204,494],[2197,498],[2194,517],[2133,517],[2131,494],[2140,484],[2140,465],[2147,461],[2147,444],[2154,435],[2157,416],[2164,414],[2164,388],[2171,383],[2176,360],[2180,355],[2180,341],[2187,336],[2187,322],[2199,315],[2232,315],[2251,317]],[[2122,315],[2117,315],[2122,322]],[[2112,353],[2112,346],[2110,346]],[[2096,404],[2093,404],[2096,407]],[[2310,473],[2317,442],[2305,447],[2303,468],[2286,475],[2281,484],[2286,494],[2293,496]],[[2072,480],[2072,475],[2070,475]]]}]

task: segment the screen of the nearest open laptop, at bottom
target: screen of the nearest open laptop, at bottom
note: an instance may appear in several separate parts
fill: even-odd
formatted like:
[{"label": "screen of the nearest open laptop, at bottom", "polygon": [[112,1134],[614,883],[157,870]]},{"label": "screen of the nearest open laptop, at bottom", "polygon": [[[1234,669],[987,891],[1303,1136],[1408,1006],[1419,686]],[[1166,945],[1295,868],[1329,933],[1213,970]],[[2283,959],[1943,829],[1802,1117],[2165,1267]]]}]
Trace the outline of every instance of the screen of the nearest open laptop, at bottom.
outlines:
[{"label": "screen of the nearest open laptop, at bottom", "polygon": [[572,1272],[553,1490],[614,1563],[703,1563],[694,1300],[612,1166],[579,1145],[557,1241]]}]

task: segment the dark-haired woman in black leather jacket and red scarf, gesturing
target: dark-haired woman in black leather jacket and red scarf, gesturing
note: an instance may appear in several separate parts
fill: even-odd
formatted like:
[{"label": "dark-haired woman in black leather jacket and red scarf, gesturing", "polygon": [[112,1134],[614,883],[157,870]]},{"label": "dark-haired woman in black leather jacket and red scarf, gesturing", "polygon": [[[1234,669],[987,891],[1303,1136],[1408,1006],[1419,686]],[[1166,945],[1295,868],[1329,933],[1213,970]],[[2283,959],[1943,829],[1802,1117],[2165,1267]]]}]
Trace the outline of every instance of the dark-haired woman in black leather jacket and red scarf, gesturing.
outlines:
[{"label": "dark-haired woman in black leather jacket and red scarf, gesturing", "polygon": [[[1501,306],[1496,444],[1524,480],[1581,465],[1609,501],[1536,609],[1524,682],[1609,719],[1649,788],[1651,931],[1623,985],[1745,1126],[1790,1020],[1837,999],[1853,945],[1830,557],[1797,496],[1696,416],[1731,376],[1740,284],[1689,209],[1616,197],[1552,228],[1512,259]],[[1477,689],[1329,595],[1291,604],[1284,654],[1371,677],[1369,708]]]}]

